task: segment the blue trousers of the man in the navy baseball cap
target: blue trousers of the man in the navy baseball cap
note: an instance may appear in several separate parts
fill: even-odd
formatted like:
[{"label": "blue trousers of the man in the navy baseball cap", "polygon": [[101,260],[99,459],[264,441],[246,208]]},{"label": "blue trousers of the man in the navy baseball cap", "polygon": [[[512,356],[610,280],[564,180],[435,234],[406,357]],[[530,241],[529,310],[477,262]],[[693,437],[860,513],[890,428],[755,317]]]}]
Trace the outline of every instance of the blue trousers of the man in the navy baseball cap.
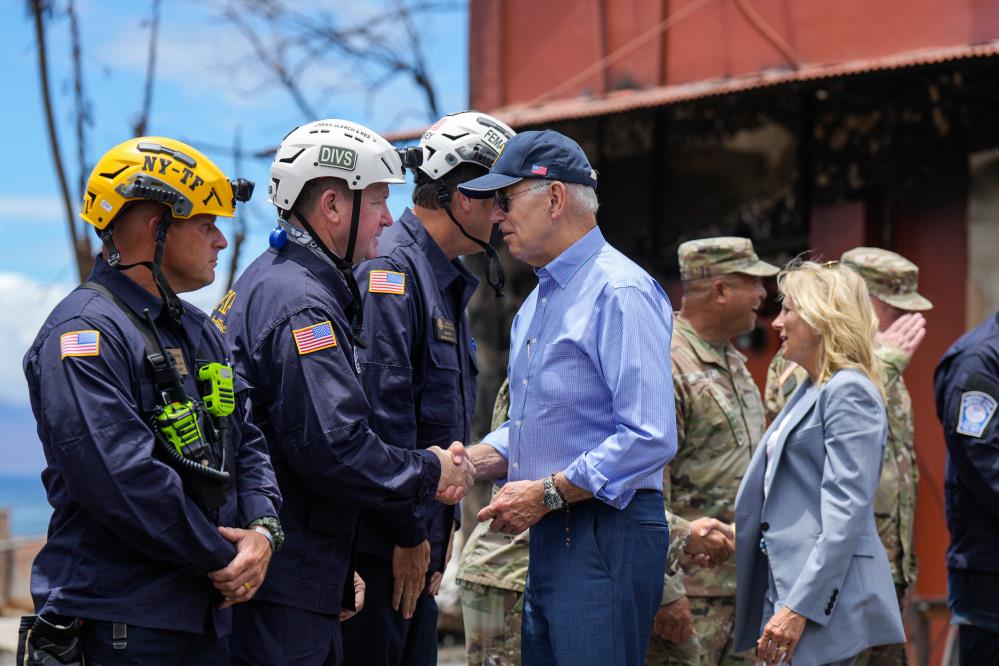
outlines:
[{"label": "blue trousers of the man in the navy baseball cap", "polygon": [[623,510],[597,500],[531,528],[524,666],[639,666],[662,602],[669,528],[662,493]]}]

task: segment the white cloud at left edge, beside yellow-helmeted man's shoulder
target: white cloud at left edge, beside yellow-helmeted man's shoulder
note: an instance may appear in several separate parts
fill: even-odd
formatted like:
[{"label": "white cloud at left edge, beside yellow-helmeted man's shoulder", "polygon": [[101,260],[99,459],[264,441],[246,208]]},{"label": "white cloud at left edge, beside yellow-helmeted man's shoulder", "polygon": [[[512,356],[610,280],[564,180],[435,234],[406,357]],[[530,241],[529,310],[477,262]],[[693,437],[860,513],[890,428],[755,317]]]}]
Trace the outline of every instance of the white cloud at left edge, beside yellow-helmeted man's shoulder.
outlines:
[{"label": "white cloud at left edge, beside yellow-helmeted man's shoulder", "polygon": [[8,344],[0,347],[0,401],[28,404],[21,359],[52,308],[69,293],[68,283],[43,284],[20,273],[0,272],[0,312],[7,321]]}]

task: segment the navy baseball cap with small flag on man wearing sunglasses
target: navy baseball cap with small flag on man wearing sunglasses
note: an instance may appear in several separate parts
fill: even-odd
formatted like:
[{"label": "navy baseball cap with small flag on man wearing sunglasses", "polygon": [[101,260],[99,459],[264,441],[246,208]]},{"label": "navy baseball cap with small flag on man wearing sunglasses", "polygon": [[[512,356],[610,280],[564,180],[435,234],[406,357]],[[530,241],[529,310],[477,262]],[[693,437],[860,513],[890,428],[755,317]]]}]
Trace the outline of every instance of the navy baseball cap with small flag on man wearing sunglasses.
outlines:
[{"label": "navy baseball cap with small flag on man wearing sunglasses", "polygon": [[467,197],[488,199],[525,178],[597,188],[597,172],[579,144],[555,130],[521,132],[506,142],[489,173],[458,186]]}]

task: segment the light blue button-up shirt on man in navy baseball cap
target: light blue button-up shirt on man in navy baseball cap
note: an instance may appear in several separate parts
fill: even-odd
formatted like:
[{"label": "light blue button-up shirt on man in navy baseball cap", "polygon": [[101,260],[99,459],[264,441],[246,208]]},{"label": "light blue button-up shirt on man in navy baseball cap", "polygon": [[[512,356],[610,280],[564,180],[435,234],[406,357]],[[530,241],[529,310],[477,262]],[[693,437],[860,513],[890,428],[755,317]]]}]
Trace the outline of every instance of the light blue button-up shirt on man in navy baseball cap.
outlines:
[{"label": "light blue button-up shirt on man in navy baseball cap", "polygon": [[669,298],[599,228],[536,273],[510,332],[510,420],[482,441],[511,481],[564,472],[617,508],[662,490],[676,454]]}]

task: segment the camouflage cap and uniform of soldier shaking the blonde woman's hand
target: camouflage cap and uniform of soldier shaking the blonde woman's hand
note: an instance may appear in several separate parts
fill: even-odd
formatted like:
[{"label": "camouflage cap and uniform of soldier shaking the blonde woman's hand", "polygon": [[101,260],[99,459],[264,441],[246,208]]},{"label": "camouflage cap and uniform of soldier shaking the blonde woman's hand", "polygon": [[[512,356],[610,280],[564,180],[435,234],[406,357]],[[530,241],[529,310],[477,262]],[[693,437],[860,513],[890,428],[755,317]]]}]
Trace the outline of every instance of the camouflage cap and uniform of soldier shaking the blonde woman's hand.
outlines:
[{"label": "camouflage cap and uniform of soldier shaking the blonde woman's hand", "polygon": [[[679,249],[684,281],[727,273],[770,276],[778,272],[759,260],[743,238],[712,238]],[[682,317],[674,319],[670,346],[676,399],[676,458],[664,470],[664,499],[674,515],[670,529],[685,529],[701,517],[733,523],[732,507],[749,459],[766,430],[759,389],[746,357],[731,343],[714,345]],[[663,603],[686,595],[694,636],[674,644],[653,634],[647,664],[751,664],[748,653],[732,653],[735,624],[735,561],[702,569],[685,560],[668,572]]]}]

